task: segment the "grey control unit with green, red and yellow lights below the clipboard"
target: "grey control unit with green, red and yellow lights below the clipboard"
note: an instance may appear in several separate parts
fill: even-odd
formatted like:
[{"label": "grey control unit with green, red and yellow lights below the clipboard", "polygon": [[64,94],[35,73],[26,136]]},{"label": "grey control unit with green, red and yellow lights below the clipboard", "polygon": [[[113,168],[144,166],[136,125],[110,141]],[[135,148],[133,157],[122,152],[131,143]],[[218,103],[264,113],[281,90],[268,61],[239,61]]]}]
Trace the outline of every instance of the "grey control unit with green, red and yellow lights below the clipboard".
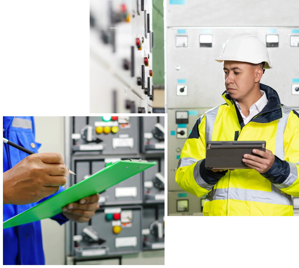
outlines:
[{"label": "grey control unit with green, red and yellow lights below the clipboard", "polygon": [[142,207],[100,208],[89,222],[74,223],[77,258],[136,253],[142,249]]}]

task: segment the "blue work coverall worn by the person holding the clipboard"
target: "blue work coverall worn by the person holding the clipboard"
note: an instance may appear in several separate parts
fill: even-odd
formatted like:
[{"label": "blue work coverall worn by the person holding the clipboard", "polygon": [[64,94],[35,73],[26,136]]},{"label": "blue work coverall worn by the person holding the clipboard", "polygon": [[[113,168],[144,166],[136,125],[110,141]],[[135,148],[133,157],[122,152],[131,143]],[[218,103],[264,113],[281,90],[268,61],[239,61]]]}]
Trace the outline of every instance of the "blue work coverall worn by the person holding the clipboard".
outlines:
[{"label": "blue work coverall worn by the person holding the clipboard", "polygon": [[[33,116],[3,116],[3,137],[35,153],[41,146],[40,143],[35,142]],[[3,143],[3,172],[15,166],[26,156],[28,154]],[[54,195],[63,190],[64,188],[60,187]],[[3,205],[3,221],[54,195],[28,205]],[[68,221],[61,213],[51,219],[56,220],[60,225]],[[40,221],[3,229],[3,264],[45,264]]]}]

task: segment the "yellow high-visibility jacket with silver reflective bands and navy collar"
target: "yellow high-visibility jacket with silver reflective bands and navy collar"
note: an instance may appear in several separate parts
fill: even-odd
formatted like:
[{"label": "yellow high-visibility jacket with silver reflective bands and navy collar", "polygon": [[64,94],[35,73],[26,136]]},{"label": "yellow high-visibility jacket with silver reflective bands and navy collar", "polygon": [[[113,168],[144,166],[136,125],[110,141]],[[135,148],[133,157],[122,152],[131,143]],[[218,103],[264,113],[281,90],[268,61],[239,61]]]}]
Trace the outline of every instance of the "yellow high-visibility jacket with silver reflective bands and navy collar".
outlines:
[{"label": "yellow high-visibility jacket with silver reflective bands and navy collar", "polygon": [[[176,182],[198,197],[206,195],[204,216],[293,216],[292,196],[299,196],[299,114],[281,104],[271,87],[260,84],[260,89],[268,103],[246,125],[225,91],[225,103],[197,120],[182,149]],[[233,140],[266,141],[274,164],[263,174],[206,169],[206,142]]]}]

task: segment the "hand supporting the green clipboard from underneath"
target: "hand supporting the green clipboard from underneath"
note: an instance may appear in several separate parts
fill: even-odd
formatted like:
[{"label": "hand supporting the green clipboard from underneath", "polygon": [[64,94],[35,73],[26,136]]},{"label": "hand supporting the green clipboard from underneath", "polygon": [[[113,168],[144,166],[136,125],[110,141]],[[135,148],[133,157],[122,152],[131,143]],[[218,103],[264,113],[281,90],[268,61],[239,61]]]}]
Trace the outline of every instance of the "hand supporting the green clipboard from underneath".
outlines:
[{"label": "hand supporting the green clipboard from underneath", "polygon": [[100,207],[97,203],[100,195],[97,193],[92,196],[70,203],[62,208],[62,214],[74,222],[88,222],[94,212]]}]

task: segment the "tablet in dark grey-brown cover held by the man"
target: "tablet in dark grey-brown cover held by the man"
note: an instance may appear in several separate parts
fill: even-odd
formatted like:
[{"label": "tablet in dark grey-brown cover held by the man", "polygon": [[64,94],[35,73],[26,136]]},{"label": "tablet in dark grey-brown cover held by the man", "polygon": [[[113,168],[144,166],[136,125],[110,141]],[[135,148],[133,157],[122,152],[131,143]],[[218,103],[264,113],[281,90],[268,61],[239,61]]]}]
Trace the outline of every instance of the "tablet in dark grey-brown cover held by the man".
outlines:
[{"label": "tablet in dark grey-brown cover held by the man", "polygon": [[251,169],[242,159],[245,154],[256,155],[252,152],[253,149],[265,152],[266,141],[208,141],[205,167],[206,169]]}]

